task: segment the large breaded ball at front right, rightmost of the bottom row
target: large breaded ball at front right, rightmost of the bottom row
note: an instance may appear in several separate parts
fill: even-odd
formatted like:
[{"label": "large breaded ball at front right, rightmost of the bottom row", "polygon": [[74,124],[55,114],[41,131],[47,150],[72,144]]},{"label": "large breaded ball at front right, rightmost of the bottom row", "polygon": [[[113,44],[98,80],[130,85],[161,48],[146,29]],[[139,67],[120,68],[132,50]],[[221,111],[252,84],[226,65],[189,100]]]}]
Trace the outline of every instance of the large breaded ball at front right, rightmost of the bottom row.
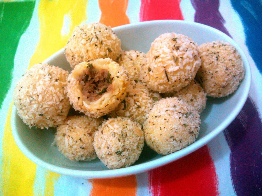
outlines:
[{"label": "large breaded ball at front right, rightmost of the bottom row", "polygon": [[199,114],[177,97],[157,101],[143,125],[146,144],[162,155],[192,144],[199,129]]}]

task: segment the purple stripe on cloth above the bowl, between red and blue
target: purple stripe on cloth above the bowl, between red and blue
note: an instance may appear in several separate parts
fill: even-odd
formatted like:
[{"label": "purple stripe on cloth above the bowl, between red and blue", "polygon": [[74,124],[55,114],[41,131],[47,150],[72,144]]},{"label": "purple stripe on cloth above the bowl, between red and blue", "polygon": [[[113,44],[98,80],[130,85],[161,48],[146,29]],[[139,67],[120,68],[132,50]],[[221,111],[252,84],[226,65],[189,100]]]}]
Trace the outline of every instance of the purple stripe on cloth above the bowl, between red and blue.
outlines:
[{"label": "purple stripe on cloth above the bowl, between red and blue", "polygon": [[[223,23],[225,20],[222,18],[219,12],[219,0],[190,0],[193,8],[195,9],[195,18],[194,21],[214,27],[223,33],[226,33],[228,36],[230,34],[224,27]],[[231,37],[231,36],[230,36]],[[214,40],[215,41],[215,40]]]}]

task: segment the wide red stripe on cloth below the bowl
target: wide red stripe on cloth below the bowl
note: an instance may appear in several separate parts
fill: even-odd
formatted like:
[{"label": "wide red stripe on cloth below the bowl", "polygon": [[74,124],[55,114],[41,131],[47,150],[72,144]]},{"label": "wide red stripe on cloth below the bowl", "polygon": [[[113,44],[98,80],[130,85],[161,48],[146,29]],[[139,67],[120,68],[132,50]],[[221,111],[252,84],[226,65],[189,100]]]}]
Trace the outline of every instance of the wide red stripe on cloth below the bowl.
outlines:
[{"label": "wide red stripe on cloth below the bowl", "polygon": [[207,145],[197,151],[149,172],[152,196],[216,196],[218,180]]}]

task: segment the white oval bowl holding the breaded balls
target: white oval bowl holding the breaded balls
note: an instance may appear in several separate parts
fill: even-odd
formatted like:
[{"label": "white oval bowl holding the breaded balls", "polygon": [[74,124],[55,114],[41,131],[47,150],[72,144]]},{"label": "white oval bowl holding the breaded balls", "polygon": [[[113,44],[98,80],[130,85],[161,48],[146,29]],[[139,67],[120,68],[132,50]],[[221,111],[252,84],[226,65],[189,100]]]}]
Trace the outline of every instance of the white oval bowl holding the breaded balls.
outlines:
[{"label": "white oval bowl holding the breaded balls", "polygon": [[[241,111],[248,97],[251,72],[244,52],[226,34],[206,25],[181,20],[139,22],[115,27],[113,31],[121,39],[123,50],[135,49],[144,53],[149,50],[156,37],[166,32],[184,34],[191,37],[198,45],[216,40],[229,42],[242,56],[245,68],[244,79],[234,94],[223,98],[208,98],[206,109],[200,116],[200,133],[192,145],[166,156],[159,155],[145,146],[134,165],[115,170],[108,169],[98,158],[90,162],[70,161],[65,158],[56,146],[51,145],[55,128],[29,129],[13,107],[11,127],[15,142],[26,157],[37,165],[58,174],[81,178],[110,178],[138,174],[170,163],[204,146],[222,132]],[[44,62],[59,66],[69,72],[72,70],[65,59],[64,49],[59,50]]]}]

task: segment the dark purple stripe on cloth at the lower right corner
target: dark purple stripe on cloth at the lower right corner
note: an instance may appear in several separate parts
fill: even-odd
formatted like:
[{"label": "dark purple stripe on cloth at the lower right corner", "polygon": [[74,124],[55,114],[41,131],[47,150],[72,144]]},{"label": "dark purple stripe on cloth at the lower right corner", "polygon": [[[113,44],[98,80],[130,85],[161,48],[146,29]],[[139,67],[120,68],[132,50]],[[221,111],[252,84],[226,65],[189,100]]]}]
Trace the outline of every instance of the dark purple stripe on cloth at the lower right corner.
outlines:
[{"label": "dark purple stripe on cloth at the lower right corner", "polygon": [[262,123],[248,98],[237,118],[224,130],[231,150],[230,169],[235,192],[262,195]]}]

